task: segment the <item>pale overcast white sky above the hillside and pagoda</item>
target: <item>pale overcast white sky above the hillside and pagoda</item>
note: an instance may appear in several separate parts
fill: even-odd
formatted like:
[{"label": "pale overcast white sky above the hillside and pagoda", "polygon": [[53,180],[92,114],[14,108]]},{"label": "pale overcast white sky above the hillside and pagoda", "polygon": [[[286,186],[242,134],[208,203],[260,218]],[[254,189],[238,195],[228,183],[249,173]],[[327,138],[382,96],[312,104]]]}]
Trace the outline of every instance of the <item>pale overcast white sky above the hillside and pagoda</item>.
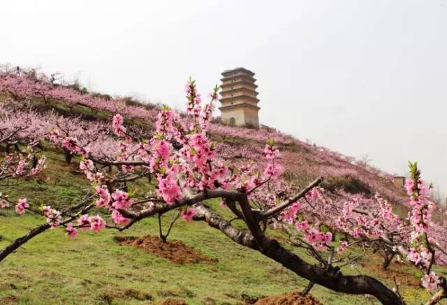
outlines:
[{"label": "pale overcast white sky above the hillside and pagoda", "polygon": [[177,108],[243,66],[261,123],[447,193],[447,0],[2,1],[0,62]]}]

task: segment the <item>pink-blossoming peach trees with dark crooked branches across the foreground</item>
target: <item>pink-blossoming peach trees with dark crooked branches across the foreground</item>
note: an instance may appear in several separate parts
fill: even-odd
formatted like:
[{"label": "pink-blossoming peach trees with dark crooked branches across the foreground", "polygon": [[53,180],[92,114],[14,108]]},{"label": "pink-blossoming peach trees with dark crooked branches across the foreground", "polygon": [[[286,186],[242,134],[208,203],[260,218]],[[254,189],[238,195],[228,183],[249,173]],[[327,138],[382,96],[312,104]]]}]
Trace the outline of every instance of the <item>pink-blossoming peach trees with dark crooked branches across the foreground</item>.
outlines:
[{"label": "pink-blossoming peach trees with dark crooked branches across the foreground", "polygon": [[[46,100],[57,96],[54,91],[61,95],[64,91],[41,80],[36,80],[33,89],[29,89],[31,84],[25,85],[27,80],[29,77],[3,75],[1,86],[14,98],[40,95]],[[36,89],[36,83],[42,86]],[[84,123],[79,120],[64,123],[63,118],[51,114],[55,116],[50,120],[52,126],[45,125],[43,137],[81,158],[80,170],[90,181],[91,192],[61,211],[50,205],[38,209],[33,205],[33,198],[18,198],[14,207],[18,214],[27,211],[41,214],[46,222],[3,249],[0,260],[48,229],[64,228],[68,237],[75,238],[85,230],[98,233],[105,228],[126,230],[143,218],[160,219],[163,214],[176,211],[184,221],[203,221],[237,244],[259,251],[311,283],[335,291],[374,295],[383,304],[404,304],[398,292],[372,277],[342,274],[337,263],[343,260],[336,255],[362,242],[380,247],[386,255],[399,255],[423,270],[422,284],[427,290],[437,291],[430,304],[446,296],[445,278],[432,271],[435,259],[444,254],[437,254],[437,241],[430,236],[434,209],[429,200],[431,187],[420,179],[416,164],[411,164],[412,179],[406,185],[412,207],[408,220],[393,214],[391,205],[380,195],[362,198],[345,193],[334,197],[320,187],[322,178],[299,191],[284,179],[283,164],[287,158],[282,156],[273,138],[260,152],[263,160],[258,164],[233,162],[228,158],[228,151],[223,152],[227,148],[212,140],[210,122],[217,89],[210,94],[210,103],[203,105],[196,82],[189,80],[185,87],[187,117],[182,118],[178,112],[163,107],[156,114],[154,133],[147,137],[132,135],[116,108],[111,127],[103,124],[82,127]],[[87,103],[86,98],[80,94],[73,97],[73,103]],[[70,98],[64,94],[64,100]],[[87,100],[91,101],[91,96]],[[13,129],[6,132],[11,126],[5,126],[0,135],[6,141],[12,138],[11,133],[20,132]],[[101,132],[90,134],[88,128]],[[40,172],[45,159],[31,164],[31,156],[34,155],[4,156],[0,179]],[[137,181],[149,181],[147,189],[129,192],[129,184]],[[205,200],[212,199],[221,201],[223,207],[244,223],[245,230],[235,228],[229,219],[207,207]],[[1,207],[12,207],[8,200],[0,200],[3,200]],[[94,207],[101,212],[89,214]],[[106,222],[108,218],[110,222]],[[317,263],[302,260],[268,236],[265,232],[269,225],[284,229],[293,243],[307,249]],[[335,243],[336,232],[344,232],[354,241]]]}]

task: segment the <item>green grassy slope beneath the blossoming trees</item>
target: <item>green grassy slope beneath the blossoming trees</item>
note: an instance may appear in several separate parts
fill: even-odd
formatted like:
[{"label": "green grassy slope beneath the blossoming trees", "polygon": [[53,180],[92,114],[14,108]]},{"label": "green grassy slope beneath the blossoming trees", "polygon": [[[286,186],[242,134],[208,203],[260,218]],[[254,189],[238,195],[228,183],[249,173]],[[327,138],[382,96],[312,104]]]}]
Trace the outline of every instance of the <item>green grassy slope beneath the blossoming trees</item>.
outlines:
[{"label": "green grassy slope beneath the blossoming trees", "polygon": [[[66,164],[60,155],[47,152],[47,159],[45,176],[8,188],[11,199],[22,194],[41,203],[59,205],[64,202],[58,198],[76,200],[82,189],[88,187],[87,181],[74,170],[62,170]],[[216,202],[211,204],[220,209]],[[8,244],[8,239],[19,237],[42,221],[29,215],[0,216],[0,235],[3,235],[0,248]],[[146,234],[157,234],[153,218],[126,232],[105,230],[98,235],[82,232],[74,240],[65,237],[60,229],[47,231],[0,263],[0,304],[149,304],[149,299],[159,302],[174,295],[186,299],[188,304],[202,304],[207,298],[217,304],[236,304],[241,295],[274,295],[302,290],[307,284],[276,262],[235,244],[205,223],[179,221],[170,238],[217,258],[217,265],[175,265],[138,249],[120,246],[113,239]],[[300,255],[305,257],[304,253]],[[371,255],[362,258],[368,263],[375,260]],[[369,269],[359,264],[344,267],[344,272],[374,276]],[[404,276],[415,273],[411,267],[400,267],[400,271]],[[427,292],[420,288],[401,289],[409,304],[420,304],[418,301],[427,297]],[[371,304],[363,296],[342,295],[321,287],[314,288],[312,294],[324,304]]]}]

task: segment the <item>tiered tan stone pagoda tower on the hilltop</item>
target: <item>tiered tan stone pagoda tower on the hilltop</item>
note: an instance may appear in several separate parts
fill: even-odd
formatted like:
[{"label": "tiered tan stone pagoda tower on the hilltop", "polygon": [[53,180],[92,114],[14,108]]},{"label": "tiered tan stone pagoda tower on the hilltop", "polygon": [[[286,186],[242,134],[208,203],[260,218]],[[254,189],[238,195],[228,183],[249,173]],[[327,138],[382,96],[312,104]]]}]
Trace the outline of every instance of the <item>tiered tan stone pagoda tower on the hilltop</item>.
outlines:
[{"label": "tiered tan stone pagoda tower on the hilltop", "polygon": [[245,68],[226,70],[221,78],[222,121],[233,126],[259,127],[258,92],[254,73]]}]

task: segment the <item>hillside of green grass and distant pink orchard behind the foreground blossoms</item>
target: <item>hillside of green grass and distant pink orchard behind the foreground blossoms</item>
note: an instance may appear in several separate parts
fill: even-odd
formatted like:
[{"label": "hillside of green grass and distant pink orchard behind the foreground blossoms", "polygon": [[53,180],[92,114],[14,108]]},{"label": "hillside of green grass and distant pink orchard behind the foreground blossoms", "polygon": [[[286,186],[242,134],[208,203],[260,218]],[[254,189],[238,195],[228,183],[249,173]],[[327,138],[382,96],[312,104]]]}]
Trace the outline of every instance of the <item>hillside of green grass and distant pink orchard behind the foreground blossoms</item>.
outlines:
[{"label": "hillside of green grass and distant pink orchard behind the foreground blossoms", "polygon": [[[38,139],[37,150],[47,156],[47,168],[36,179],[8,186],[10,198],[29,197],[38,204],[51,202],[61,208],[79,200],[89,189],[89,181],[79,169],[80,159],[73,156],[71,163],[67,163],[66,151],[50,144],[51,126],[65,130],[67,136],[79,137],[93,155],[108,151],[109,145],[116,142],[110,121],[117,112],[124,115],[124,126],[135,138],[147,137],[154,130],[157,105],[89,93],[78,86],[54,85],[44,75],[17,77],[3,73],[2,77],[1,110],[15,119],[10,120],[10,125],[34,126],[30,131],[21,131],[20,137],[30,142]],[[11,109],[14,111],[10,112]],[[187,121],[188,117],[182,114],[182,119]],[[3,127],[8,128],[8,124]],[[245,163],[264,165],[263,149],[272,138],[281,151],[284,176],[295,188],[304,188],[309,181],[323,176],[323,187],[333,194],[334,200],[344,200],[343,194],[346,198],[359,195],[369,199],[377,192],[393,204],[395,213],[404,216],[408,211],[406,194],[394,186],[390,174],[353,158],[266,126],[259,130],[237,128],[214,119],[209,133],[210,139],[217,143],[219,155],[234,168]],[[103,142],[91,141],[98,137],[103,137]],[[133,193],[142,192],[138,184],[129,188]],[[219,201],[209,200],[207,204],[230,217]],[[42,218],[30,215],[6,213],[0,217],[0,248],[42,222]],[[243,228],[241,223],[236,224]],[[167,224],[164,225],[166,230]],[[87,232],[73,240],[61,238],[64,234],[59,230],[45,232],[1,262],[1,303],[151,304],[177,298],[187,304],[251,304],[259,297],[303,290],[307,285],[305,279],[256,251],[233,243],[205,223],[186,225],[185,221],[179,221],[168,240],[183,241],[201,251],[211,258],[207,262],[177,264],[119,242],[123,237],[157,235],[158,230],[156,218],[147,218],[124,232],[105,230],[98,236]],[[284,232],[272,228],[267,232],[305,260],[313,261],[305,250],[294,248]],[[337,235],[334,242],[340,238],[342,235]],[[383,271],[380,256],[361,246],[350,247],[344,254],[345,258],[351,256],[358,259],[342,267],[344,274],[368,274],[390,286],[396,276],[407,304],[420,304],[421,299],[427,298],[427,291],[420,287],[422,274],[408,264],[395,263]],[[435,269],[440,274],[447,271],[444,267]],[[311,293],[323,304],[374,303],[374,299],[344,295],[318,285]]]}]

